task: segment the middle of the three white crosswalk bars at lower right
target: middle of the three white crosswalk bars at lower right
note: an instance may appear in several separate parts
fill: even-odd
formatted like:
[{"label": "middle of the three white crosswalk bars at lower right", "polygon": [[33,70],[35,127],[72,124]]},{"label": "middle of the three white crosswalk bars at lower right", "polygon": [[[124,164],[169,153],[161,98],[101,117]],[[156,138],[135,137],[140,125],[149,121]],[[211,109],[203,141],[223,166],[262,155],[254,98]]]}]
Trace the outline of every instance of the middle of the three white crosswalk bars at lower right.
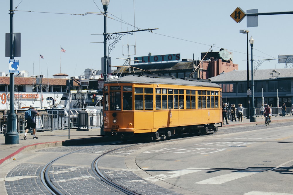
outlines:
[{"label": "middle of the three white crosswalk bars at lower right", "polygon": [[226,175],[212,177],[207,180],[202,180],[200,182],[196,182],[195,184],[222,184],[225,182],[239,179],[241,177],[246,177],[248,175],[253,175],[255,173],[260,173],[260,172],[267,171],[267,170],[268,169],[245,169],[245,170],[237,171],[234,173],[229,173]]}]

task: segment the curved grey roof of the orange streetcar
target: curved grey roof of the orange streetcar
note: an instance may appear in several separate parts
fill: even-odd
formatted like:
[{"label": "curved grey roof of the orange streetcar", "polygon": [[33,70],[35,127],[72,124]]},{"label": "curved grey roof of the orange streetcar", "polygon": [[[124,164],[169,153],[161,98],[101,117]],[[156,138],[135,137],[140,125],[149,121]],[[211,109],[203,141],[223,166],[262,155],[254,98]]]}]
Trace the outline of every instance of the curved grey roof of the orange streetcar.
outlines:
[{"label": "curved grey roof of the orange streetcar", "polygon": [[145,83],[145,84],[174,84],[174,85],[185,85],[185,86],[198,86],[198,87],[221,87],[218,84],[211,82],[192,81],[185,79],[176,78],[157,78],[157,77],[146,77],[139,75],[127,75],[115,79],[108,80],[107,83]]}]

